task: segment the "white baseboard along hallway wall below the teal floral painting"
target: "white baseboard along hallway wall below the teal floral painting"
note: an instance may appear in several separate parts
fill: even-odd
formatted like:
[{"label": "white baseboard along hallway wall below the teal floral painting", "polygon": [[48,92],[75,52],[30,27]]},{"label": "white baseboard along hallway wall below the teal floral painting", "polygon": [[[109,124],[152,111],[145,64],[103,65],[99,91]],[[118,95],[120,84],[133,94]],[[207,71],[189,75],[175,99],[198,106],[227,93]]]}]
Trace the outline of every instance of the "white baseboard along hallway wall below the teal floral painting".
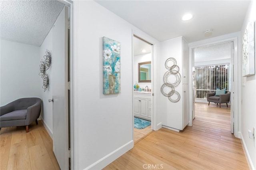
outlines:
[{"label": "white baseboard along hallway wall below the teal floral painting", "polygon": [[104,156],[100,160],[94,162],[93,164],[91,164],[90,166],[85,168],[84,170],[101,170],[104,167],[106,167],[108,164],[110,164],[111,162],[113,162],[114,160],[116,160],[117,158],[122,156],[128,150],[133,148],[133,146],[134,146],[134,141],[131,140],[130,142],[124,144],[120,148],[117,148],[116,150],[114,150],[110,154]]}]

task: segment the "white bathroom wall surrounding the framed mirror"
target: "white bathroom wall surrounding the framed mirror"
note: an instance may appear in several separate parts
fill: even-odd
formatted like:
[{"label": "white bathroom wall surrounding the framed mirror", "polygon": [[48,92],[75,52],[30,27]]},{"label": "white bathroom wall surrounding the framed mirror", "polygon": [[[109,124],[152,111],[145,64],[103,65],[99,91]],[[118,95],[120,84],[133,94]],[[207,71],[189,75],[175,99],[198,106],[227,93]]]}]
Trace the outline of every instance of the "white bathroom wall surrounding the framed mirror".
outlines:
[{"label": "white bathroom wall surrounding the framed mirror", "polygon": [[152,53],[147,53],[147,54],[142,54],[142,55],[136,55],[133,57],[133,79],[134,79],[134,83],[135,81],[137,81],[138,85],[140,86],[140,88],[144,88],[146,86],[148,86],[148,89],[152,88],[151,83],[148,82],[144,82],[144,83],[139,83],[138,82],[138,63],[142,63],[142,62],[146,62],[146,61],[151,61],[152,60]]}]

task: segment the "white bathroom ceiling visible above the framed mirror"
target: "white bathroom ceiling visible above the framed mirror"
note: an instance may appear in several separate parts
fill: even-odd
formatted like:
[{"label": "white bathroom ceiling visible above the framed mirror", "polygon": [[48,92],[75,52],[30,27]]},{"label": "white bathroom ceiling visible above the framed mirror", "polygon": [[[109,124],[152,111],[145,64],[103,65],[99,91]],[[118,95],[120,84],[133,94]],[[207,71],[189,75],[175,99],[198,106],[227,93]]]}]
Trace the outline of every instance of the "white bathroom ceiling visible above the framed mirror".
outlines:
[{"label": "white bathroom ceiling visible above the framed mirror", "polygon": [[[151,47],[152,45],[134,37],[133,38],[133,55],[142,55],[145,53],[150,53],[151,52]],[[142,52],[142,49],[145,49],[146,52]]]}]

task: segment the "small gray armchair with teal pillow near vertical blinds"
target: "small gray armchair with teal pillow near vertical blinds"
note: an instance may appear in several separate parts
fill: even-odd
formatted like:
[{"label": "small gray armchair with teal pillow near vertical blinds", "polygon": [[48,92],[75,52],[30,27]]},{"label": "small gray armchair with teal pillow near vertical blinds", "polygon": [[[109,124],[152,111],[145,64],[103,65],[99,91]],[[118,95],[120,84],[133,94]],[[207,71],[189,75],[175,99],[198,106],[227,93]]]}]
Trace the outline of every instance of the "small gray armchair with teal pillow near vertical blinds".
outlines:
[{"label": "small gray armchair with teal pillow near vertical blinds", "polygon": [[206,93],[206,98],[207,101],[209,102],[208,105],[210,105],[210,102],[213,103],[217,103],[220,104],[221,107],[221,103],[226,103],[227,107],[228,107],[228,102],[230,100],[230,92],[226,91],[226,94],[220,95],[220,96],[214,96],[216,92],[212,92],[212,93]]}]

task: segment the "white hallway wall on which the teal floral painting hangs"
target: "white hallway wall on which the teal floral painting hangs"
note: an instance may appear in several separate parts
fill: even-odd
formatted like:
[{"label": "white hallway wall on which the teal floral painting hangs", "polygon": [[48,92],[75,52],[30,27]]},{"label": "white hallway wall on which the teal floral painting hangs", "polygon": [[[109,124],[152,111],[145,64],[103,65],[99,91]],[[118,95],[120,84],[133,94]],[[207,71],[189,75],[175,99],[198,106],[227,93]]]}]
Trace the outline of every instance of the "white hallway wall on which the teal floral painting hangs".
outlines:
[{"label": "white hallway wall on which the teal floral painting hangs", "polygon": [[[102,169],[134,144],[132,33],[157,41],[94,1],[74,1],[74,12],[74,164]],[[121,43],[119,94],[103,95],[104,36]]]}]

